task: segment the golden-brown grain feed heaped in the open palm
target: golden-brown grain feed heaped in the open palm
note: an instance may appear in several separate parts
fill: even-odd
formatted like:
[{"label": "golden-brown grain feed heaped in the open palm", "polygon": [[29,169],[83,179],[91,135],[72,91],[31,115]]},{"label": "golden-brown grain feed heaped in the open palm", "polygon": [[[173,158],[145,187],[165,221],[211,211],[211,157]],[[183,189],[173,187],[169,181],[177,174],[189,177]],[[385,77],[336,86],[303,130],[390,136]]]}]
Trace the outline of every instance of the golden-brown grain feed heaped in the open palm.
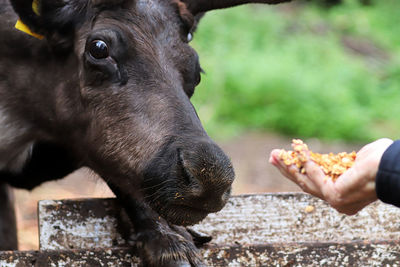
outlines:
[{"label": "golden-brown grain feed heaped in the open palm", "polygon": [[301,173],[305,173],[304,164],[307,161],[307,153],[310,159],[317,163],[326,176],[335,181],[346,170],[351,168],[356,159],[356,152],[350,154],[341,152],[338,154],[319,154],[308,150],[307,145],[300,139],[292,140],[293,151],[281,150],[280,159],[285,165],[296,165]]}]

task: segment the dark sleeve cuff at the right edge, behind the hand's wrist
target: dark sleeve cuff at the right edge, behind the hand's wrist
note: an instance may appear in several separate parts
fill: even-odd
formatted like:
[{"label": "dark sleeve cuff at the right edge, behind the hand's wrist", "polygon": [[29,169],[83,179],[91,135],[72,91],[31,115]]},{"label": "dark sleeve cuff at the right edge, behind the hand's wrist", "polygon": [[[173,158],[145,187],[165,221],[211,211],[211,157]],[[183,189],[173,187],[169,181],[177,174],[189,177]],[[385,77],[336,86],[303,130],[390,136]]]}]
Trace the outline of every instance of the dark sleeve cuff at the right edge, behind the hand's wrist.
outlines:
[{"label": "dark sleeve cuff at the right edge, behind the hand's wrist", "polygon": [[376,175],[376,194],[382,202],[400,207],[400,140],[383,153]]}]

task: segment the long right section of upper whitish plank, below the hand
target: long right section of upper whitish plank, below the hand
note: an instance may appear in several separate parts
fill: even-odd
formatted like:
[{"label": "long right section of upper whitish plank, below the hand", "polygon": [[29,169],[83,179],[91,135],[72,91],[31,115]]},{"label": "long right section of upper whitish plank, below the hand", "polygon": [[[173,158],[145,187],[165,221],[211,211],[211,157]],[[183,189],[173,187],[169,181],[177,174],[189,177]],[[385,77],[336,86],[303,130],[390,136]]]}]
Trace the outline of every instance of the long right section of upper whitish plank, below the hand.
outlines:
[{"label": "long right section of upper whitish plank, below the hand", "polygon": [[244,195],[193,229],[216,244],[400,240],[400,209],[377,201],[347,216],[308,194]]}]

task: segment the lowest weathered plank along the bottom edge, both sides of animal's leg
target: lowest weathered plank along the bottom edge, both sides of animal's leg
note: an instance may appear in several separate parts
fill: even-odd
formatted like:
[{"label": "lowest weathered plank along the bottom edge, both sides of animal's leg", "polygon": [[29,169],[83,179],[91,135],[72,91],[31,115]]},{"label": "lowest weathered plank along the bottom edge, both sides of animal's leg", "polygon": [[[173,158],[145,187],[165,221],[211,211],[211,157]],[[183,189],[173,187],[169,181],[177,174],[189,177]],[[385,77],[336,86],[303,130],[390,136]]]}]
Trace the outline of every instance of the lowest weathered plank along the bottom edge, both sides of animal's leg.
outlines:
[{"label": "lowest weathered plank along the bottom edge, both sides of animal's leg", "polygon": [[[274,243],[213,247],[201,252],[207,266],[400,266],[400,245],[391,242]],[[0,266],[140,266],[130,248],[0,252]]]}]

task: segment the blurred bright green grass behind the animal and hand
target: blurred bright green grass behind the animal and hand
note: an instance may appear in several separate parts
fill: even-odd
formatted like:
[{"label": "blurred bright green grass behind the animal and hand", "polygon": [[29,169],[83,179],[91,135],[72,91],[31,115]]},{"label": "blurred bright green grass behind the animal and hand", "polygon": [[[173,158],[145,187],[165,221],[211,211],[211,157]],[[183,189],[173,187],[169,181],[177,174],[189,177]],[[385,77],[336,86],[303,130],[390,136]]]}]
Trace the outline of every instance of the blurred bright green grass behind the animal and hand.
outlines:
[{"label": "blurred bright green grass behind the animal and hand", "polygon": [[400,136],[400,1],[247,5],[209,12],[192,46],[193,103],[214,138]]}]

